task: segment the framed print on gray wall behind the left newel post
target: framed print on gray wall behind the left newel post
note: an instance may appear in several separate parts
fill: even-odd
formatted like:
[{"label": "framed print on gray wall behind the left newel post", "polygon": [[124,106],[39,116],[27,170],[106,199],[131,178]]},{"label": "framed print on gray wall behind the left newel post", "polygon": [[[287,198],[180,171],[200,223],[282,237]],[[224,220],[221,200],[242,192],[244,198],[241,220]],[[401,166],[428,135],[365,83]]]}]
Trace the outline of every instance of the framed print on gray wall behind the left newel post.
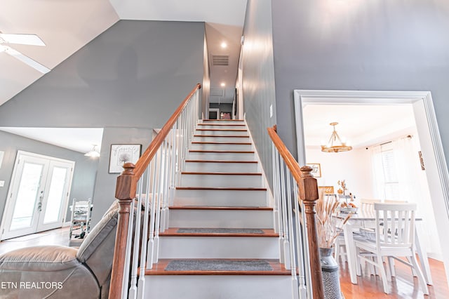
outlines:
[{"label": "framed print on gray wall behind the left newel post", "polygon": [[123,164],[138,161],[142,152],[142,145],[111,145],[109,155],[109,173],[122,173]]}]

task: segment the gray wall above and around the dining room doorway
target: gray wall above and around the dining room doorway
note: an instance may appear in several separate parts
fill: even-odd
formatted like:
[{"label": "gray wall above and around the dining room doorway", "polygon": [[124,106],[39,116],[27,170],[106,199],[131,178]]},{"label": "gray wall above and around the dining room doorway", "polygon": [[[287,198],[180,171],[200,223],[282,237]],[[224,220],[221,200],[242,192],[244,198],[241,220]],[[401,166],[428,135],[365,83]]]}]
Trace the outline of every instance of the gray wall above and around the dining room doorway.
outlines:
[{"label": "gray wall above and around the dining room doorway", "polygon": [[295,157],[294,89],[431,91],[449,153],[448,1],[272,2],[278,128]]}]

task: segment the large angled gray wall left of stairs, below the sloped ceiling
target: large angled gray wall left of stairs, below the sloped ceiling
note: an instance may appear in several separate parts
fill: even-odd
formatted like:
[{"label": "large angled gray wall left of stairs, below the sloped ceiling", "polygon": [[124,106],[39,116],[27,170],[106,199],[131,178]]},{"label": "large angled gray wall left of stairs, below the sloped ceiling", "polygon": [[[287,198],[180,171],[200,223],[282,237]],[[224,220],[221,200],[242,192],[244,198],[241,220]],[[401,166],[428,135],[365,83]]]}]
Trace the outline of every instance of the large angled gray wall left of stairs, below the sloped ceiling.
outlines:
[{"label": "large angled gray wall left of stairs, below the sloped ceiling", "polygon": [[204,36],[203,22],[116,22],[1,105],[0,126],[105,128],[95,224],[114,200],[110,145],[139,143],[145,150],[151,129],[161,128],[192,88],[208,80]]}]

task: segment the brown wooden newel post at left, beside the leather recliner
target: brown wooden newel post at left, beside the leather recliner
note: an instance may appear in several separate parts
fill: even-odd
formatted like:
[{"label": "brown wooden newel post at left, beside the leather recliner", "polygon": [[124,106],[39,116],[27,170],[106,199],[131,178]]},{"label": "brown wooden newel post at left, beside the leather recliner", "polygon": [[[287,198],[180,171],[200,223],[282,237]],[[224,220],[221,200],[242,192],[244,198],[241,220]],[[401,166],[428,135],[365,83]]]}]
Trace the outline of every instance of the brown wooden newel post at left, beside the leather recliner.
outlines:
[{"label": "brown wooden newel post at left, beside the leather recliner", "polygon": [[119,199],[119,218],[115,236],[114,260],[112,261],[111,286],[109,299],[120,299],[123,284],[123,270],[125,267],[126,240],[128,239],[128,223],[131,202],[135,198],[136,184],[134,182],[134,168],[132,163],[123,165],[125,170],[117,177],[115,197]]}]

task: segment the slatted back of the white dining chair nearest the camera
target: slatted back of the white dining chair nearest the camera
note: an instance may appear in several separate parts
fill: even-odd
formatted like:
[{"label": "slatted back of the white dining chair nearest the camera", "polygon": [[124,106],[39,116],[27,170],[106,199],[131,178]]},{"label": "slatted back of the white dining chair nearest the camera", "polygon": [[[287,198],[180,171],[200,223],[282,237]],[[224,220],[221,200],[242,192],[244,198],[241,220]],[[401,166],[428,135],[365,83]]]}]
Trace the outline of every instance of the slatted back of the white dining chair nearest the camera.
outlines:
[{"label": "slatted back of the white dining chair nearest the camera", "polygon": [[374,204],[378,246],[408,247],[415,241],[416,204]]}]

